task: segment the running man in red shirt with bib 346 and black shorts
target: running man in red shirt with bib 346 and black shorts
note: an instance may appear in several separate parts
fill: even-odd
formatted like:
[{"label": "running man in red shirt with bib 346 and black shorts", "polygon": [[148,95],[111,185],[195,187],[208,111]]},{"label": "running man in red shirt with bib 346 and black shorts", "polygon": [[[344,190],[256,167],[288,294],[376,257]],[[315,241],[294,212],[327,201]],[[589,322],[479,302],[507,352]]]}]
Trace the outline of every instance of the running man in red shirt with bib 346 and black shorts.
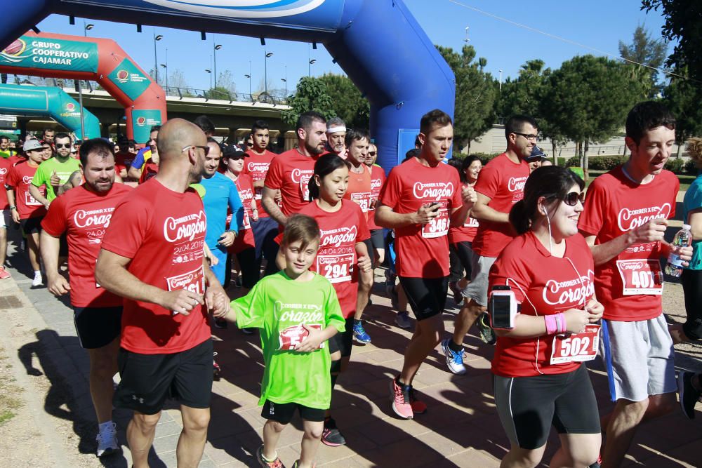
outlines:
[{"label": "running man in red shirt with bib 346 and black shorts", "polygon": [[417,319],[402,373],[390,385],[392,409],[404,419],[427,408],[416,399],[412,380],[444,331],[449,227],[463,225],[475,202],[471,188],[460,189],[458,172],[442,164],[453,143],[451,117],[428,112],[419,138],[419,155],[390,171],[376,208],[376,223],[395,229],[397,275]]}]

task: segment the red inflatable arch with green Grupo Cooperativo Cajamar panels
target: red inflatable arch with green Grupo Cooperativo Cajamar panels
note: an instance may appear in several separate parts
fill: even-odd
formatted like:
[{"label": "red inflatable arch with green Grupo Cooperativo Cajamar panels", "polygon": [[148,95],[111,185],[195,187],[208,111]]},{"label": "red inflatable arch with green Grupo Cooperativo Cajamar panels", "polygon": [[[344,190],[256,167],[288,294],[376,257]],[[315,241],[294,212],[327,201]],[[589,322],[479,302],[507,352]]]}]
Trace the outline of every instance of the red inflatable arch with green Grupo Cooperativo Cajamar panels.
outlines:
[{"label": "red inflatable arch with green Grupo Cooperativo Cajamar panels", "polygon": [[13,39],[0,52],[0,72],[97,81],[124,106],[127,136],[140,143],[166,120],[163,88],[112,39],[31,31]]}]

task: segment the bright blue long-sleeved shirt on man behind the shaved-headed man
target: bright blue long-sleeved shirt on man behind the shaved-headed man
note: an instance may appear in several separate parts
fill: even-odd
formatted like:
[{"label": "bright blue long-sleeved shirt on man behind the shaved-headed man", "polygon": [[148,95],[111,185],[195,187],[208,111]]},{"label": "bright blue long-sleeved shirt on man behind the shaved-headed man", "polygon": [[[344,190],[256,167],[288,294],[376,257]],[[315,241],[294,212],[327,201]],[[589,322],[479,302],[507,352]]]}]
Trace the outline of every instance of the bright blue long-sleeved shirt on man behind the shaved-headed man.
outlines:
[{"label": "bright blue long-sleeved shirt on man behind the shaved-headed man", "polygon": [[218,241],[227,229],[227,208],[234,213],[230,231],[238,233],[239,228],[244,225],[244,205],[241,204],[237,185],[220,173],[215,173],[208,179],[203,177],[200,185],[205,187],[205,196],[202,198],[207,216],[205,243],[210,250],[218,248],[225,252],[227,248],[221,246]]}]

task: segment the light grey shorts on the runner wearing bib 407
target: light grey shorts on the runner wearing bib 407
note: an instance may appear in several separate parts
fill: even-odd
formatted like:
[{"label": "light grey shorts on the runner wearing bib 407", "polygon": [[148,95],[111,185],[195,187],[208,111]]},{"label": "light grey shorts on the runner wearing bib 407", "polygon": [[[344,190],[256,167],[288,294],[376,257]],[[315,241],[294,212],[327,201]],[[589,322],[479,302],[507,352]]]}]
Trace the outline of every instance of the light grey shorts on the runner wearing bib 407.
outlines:
[{"label": "light grey shorts on the runner wearing bib 407", "polygon": [[602,320],[600,356],[611,401],[644,401],[675,392],[673,339],[663,314],[636,322]]}]

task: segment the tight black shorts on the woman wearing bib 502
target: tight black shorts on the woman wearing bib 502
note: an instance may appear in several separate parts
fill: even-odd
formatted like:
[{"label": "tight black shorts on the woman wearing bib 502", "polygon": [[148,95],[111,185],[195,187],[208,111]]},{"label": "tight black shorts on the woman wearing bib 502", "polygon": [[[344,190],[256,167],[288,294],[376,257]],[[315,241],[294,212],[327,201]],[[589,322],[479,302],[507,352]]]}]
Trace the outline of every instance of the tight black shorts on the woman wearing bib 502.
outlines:
[{"label": "tight black shorts on the woman wearing bib 502", "polygon": [[512,443],[534,450],[558,434],[600,434],[600,413],[588,368],[534,377],[493,375],[495,403]]}]

